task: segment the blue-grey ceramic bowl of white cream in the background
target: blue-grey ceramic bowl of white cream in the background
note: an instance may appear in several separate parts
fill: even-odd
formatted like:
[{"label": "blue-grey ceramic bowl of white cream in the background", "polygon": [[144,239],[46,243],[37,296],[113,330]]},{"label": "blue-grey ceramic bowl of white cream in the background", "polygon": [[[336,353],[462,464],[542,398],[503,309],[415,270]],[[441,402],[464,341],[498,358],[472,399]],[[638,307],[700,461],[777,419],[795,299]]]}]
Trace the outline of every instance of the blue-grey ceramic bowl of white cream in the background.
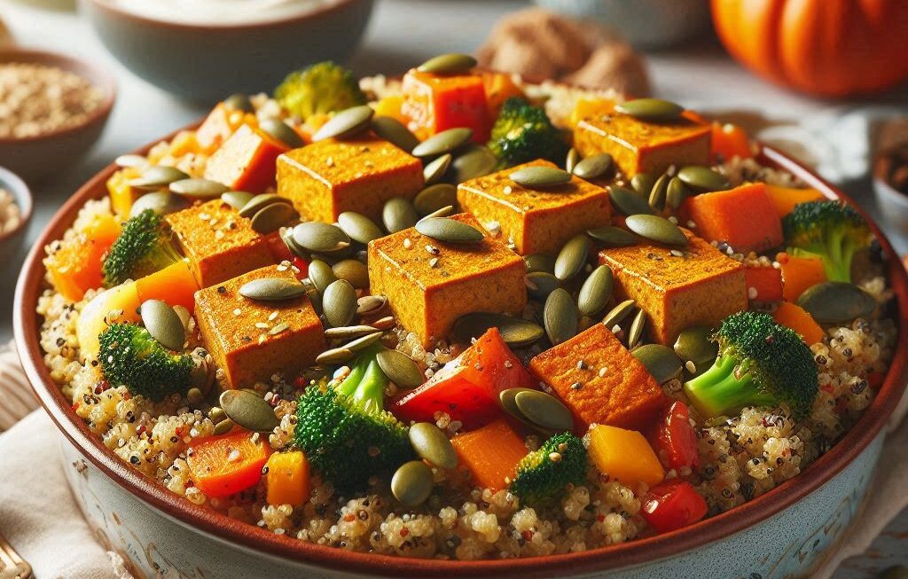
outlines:
[{"label": "blue-grey ceramic bowl of white cream in the background", "polygon": [[114,0],[81,8],[114,56],[134,74],[177,96],[213,103],[231,93],[257,93],[288,71],[343,61],[369,22],[372,0],[324,7],[243,25],[183,24],[127,12]]}]

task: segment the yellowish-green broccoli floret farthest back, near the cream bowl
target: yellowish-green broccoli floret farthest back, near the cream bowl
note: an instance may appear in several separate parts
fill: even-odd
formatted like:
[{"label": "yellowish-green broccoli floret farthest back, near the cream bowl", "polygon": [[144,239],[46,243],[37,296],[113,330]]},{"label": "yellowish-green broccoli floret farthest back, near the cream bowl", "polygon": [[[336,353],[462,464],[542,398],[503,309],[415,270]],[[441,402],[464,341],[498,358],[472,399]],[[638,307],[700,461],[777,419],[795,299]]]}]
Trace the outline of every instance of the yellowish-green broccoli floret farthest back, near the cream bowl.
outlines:
[{"label": "yellowish-green broccoli floret farthest back, near the cream bowl", "polygon": [[302,118],[343,111],[366,103],[360,83],[346,68],[331,62],[311,64],[288,74],[274,89],[281,106]]}]

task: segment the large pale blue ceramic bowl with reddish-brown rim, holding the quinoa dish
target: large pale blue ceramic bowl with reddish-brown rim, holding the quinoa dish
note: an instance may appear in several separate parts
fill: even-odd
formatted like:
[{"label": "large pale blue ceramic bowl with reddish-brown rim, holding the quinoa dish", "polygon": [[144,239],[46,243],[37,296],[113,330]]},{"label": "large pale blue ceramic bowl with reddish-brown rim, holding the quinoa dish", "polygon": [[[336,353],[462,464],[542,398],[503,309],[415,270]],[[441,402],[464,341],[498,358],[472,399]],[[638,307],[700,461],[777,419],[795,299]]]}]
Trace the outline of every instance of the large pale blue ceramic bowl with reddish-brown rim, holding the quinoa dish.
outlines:
[{"label": "large pale blue ceramic bowl with reddish-brown rim, holding the quinoa dish", "polygon": [[[168,137],[169,138],[169,137]],[[849,201],[813,172],[765,148],[761,161],[795,173],[829,198]],[[110,166],[75,193],[35,243],[15,295],[16,346],[44,409],[62,433],[67,480],[95,535],[133,564],[136,576],[272,578],[532,577],[620,579],[726,577],[777,579],[808,575],[860,511],[880,459],[883,425],[908,382],[908,272],[882,231],[897,299],[896,356],[873,403],[843,440],[804,472],[724,514],[664,535],[575,554],[456,562],[351,553],[274,535],[174,495],[123,463],[88,430],[65,399],[38,345],[35,314],[44,284],[44,244],[61,237],[89,199],[106,194]]]}]

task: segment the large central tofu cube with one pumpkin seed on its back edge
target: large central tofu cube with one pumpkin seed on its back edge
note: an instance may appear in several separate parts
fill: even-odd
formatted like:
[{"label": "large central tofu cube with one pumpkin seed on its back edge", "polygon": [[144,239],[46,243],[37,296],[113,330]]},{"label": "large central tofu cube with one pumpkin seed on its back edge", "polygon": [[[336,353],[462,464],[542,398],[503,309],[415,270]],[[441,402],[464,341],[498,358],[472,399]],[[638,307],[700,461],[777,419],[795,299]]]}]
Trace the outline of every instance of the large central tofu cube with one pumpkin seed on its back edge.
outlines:
[{"label": "large central tofu cube with one pumpkin seed on its back edge", "polygon": [[[468,213],[452,217],[482,231]],[[474,311],[521,313],[527,305],[526,266],[504,242],[444,243],[416,229],[369,242],[369,284],[383,294],[404,328],[431,348],[460,316]]]}]

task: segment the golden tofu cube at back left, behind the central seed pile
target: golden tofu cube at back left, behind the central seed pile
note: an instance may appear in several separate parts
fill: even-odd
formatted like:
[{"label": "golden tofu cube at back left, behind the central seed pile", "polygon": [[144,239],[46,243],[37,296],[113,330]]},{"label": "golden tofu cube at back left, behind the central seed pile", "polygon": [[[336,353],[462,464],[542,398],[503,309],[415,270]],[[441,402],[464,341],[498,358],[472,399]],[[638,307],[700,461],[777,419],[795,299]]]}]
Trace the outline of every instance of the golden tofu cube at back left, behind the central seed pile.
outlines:
[{"label": "golden tofu cube at back left, behind the central seed pile", "polygon": [[372,135],[314,142],[278,158],[278,194],[311,221],[356,211],[381,222],[385,201],[412,199],[422,184],[419,159]]}]

